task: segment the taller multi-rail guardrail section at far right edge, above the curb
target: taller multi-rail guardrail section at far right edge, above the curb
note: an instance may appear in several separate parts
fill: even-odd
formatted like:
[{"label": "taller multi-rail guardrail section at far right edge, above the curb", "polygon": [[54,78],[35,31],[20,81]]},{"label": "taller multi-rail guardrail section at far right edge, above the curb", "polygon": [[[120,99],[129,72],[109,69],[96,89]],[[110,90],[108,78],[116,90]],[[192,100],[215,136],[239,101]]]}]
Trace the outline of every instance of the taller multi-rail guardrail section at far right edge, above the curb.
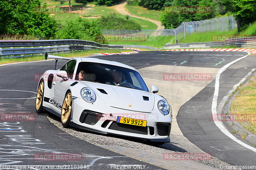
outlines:
[{"label": "taller multi-rail guardrail section at far right edge, above the curb", "polygon": [[226,40],[226,45],[241,48],[256,48],[256,37],[228,39]]}]

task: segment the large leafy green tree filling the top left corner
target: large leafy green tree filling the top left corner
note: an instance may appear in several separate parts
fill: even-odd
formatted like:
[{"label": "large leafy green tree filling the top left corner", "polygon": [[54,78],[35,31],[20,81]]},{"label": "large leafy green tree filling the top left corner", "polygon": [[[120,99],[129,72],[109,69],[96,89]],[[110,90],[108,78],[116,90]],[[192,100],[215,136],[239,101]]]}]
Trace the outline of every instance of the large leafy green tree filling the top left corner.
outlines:
[{"label": "large leafy green tree filling the top left corner", "polygon": [[0,1],[0,34],[31,34],[43,38],[54,37],[57,22],[47,12],[41,0]]}]

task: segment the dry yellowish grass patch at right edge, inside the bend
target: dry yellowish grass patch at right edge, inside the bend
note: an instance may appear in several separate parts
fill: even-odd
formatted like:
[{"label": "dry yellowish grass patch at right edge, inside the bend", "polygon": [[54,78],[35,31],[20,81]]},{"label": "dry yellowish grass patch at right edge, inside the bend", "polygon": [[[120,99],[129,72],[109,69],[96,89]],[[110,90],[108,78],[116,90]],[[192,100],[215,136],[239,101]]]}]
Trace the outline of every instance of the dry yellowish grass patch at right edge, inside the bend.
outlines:
[{"label": "dry yellowish grass patch at right edge, inside the bend", "polygon": [[[236,115],[236,121],[244,129],[256,135],[256,76],[251,77],[247,85],[242,87],[233,100],[230,113]],[[234,116],[235,117],[235,116]]]}]

